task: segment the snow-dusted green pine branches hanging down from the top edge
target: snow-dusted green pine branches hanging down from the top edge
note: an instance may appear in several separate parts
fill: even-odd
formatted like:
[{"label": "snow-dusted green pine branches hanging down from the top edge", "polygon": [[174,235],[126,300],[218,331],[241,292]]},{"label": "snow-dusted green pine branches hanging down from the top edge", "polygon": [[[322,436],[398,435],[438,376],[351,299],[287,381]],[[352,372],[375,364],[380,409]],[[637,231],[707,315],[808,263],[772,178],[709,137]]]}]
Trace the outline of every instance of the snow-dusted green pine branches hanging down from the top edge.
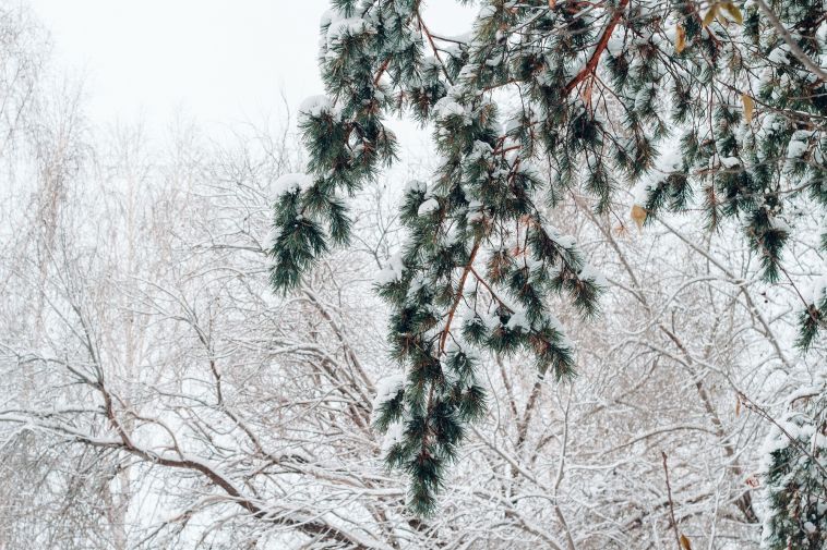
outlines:
[{"label": "snow-dusted green pine branches hanging down from the top edge", "polygon": [[[479,3],[455,38],[429,30],[420,0],[333,0],[326,95],[300,109],[307,175],[279,182],[275,205],[271,280],[287,291],[347,244],[347,197],[396,159],[385,118],[433,130],[440,167],[406,188],[407,243],[377,285],[406,375],[375,425],[393,436],[387,462],[409,474],[419,513],[484,412],[481,352],[524,350],[540,375],[573,374],[550,298],[588,317],[602,285],[551,223],[564,193],[584,190],[601,211],[637,185],[640,223],[693,205],[710,229],[736,218],[770,282],[784,272],[790,205],[827,212],[822,0]],[[806,305],[803,347],[825,306]]]}]

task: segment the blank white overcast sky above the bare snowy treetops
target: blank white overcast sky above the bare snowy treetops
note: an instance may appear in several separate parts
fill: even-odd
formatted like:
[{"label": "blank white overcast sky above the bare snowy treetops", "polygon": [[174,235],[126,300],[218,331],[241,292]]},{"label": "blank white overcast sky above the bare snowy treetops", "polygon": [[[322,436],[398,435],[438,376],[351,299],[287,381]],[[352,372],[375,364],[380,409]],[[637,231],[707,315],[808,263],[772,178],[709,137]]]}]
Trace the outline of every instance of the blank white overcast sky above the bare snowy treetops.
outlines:
[{"label": "blank white overcast sky above the bare snowy treetops", "polygon": [[[434,30],[467,9],[432,0]],[[56,61],[84,75],[93,120],[161,124],[177,110],[206,127],[255,121],[322,93],[315,64],[327,0],[31,0]]]}]

